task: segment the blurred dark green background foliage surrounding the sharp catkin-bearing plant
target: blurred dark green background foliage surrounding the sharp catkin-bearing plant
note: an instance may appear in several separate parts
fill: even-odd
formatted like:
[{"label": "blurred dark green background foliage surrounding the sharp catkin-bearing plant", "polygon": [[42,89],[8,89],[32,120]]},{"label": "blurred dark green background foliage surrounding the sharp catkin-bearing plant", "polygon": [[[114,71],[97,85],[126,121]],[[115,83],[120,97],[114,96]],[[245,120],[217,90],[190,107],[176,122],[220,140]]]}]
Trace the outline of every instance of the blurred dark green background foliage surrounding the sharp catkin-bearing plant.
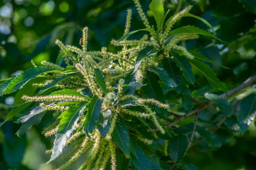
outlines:
[{"label": "blurred dark green background foliage surrounding the sharp catkin-bearing plant", "polygon": [[[140,2],[146,11],[151,0]],[[229,89],[255,74],[256,1],[166,0],[165,11],[170,9],[171,16],[188,4],[194,6],[191,13],[206,19],[214,27],[217,37],[225,42],[202,36],[182,45],[230,68],[224,69],[209,64]],[[81,29],[84,26],[89,27],[90,51],[107,46],[110,51],[115,52],[116,49],[109,43],[112,38],[118,39],[122,36],[128,8],[134,11],[131,31],[143,28],[132,0],[0,0],[0,79],[15,76],[20,70],[30,68],[31,60],[36,64],[43,60],[54,62],[59,52],[54,43],[55,39],[58,38],[65,44],[79,46]],[[151,11],[147,11],[147,14],[150,21],[154,20]],[[191,17],[181,19],[175,28],[185,25],[208,29],[204,23]],[[142,34],[138,32],[131,37],[139,39]],[[202,87],[201,90],[204,91],[208,88],[207,80],[201,73],[198,72],[197,75],[195,86],[197,89]],[[193,86],[190,88],[195,89]],[[13,95],[15,94],[1,98],[0,103],[12,104]],[[8,108],[0,106],[1,121],[7,112]],[[17,117],[24,114],[25,112],[19,113]],[[50,115],[46,115],[41,124],[47,124],[46,120],[49,118]],[[18,138],[15,132],[19,126],[7,122],[1,127],[0,170],[38,170],[49,159],[44,150],[51,147],[53,138],[45,139],[41,135],[43,127],[39,124],[22,138]],[[243,137],[236,134],[236,137],[228,138],[227,134],[227,141],[221,148],[216,146],[216,150],[190,150],[184,159],[197,165],[200,170],[256,169],[254,124],[251,124]],[[61,162],[63,161],[58,159],[58,164]],[[79,162],[77,164],[79,165]],[[52,163],[41,169],[51,170],[56,166]]]}]

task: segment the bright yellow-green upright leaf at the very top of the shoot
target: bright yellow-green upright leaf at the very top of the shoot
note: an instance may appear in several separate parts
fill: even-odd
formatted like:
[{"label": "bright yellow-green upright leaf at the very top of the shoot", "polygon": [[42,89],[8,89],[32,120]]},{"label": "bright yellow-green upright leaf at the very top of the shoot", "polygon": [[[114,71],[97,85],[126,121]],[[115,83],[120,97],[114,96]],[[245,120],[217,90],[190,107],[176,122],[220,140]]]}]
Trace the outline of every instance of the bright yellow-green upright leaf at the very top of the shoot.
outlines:
[{"label": "bright yellow-green upright leaf at the very top of the shoot", "polygon": [[160,30],[163,27],[164,9],[160,0],[152,0],[149,4],[149,9],[154,15],[157,22],[157,28]]}]

